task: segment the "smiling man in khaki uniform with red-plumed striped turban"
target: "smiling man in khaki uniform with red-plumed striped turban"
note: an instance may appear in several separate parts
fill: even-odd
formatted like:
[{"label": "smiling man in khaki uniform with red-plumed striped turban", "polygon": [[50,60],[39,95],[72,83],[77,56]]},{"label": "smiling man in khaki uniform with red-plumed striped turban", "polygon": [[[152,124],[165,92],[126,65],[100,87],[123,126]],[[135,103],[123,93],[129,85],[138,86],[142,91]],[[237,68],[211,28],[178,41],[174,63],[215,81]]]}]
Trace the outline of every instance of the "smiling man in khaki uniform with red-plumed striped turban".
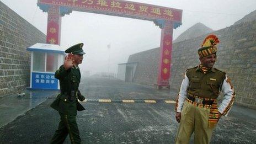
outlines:
[{"label": "smiling man in khaki uniform with red-plumed striped turban", "polygon": [[[212,131],[222,115],[227,116],[234,102],[234,89],[225,72],[214,68],[220,41],[209,35],[198,49],[200,65],[186,70],[176,101],[176,120],[180,123],[175,143],[210,143]],[[217,97],[224,98],[217,105]]]}]

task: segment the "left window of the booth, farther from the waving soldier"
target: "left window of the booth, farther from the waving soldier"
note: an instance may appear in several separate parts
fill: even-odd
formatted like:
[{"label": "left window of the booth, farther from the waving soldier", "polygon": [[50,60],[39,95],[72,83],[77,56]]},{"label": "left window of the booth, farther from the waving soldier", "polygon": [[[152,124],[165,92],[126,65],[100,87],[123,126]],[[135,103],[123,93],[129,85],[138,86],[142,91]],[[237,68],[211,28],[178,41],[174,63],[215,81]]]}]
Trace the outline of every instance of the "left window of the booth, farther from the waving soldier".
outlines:
[{"label": "left window of the booth, farther from the waving soldier", "polygon": [[45,53],[44,52],[34,51],[33,71],[38,71],[38,72],[45,71]]}]

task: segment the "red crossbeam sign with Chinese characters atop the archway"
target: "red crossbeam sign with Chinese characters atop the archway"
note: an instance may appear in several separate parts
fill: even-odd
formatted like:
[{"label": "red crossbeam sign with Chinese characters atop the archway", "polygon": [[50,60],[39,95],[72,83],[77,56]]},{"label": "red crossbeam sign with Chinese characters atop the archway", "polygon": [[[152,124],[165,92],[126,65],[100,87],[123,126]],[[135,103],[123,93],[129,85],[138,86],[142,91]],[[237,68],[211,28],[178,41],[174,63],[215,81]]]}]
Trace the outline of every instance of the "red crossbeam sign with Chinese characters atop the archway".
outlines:
[{"label": "red crossbeam sign with Chinese characters atop the archway", "polygon": [[121,17],[129,15],[147,20],[165,19],[182,22],[182,10],[145,3],[121,0],[39,0],[38,3],[65,6],[72,10],[85,12],[120,14]]}]

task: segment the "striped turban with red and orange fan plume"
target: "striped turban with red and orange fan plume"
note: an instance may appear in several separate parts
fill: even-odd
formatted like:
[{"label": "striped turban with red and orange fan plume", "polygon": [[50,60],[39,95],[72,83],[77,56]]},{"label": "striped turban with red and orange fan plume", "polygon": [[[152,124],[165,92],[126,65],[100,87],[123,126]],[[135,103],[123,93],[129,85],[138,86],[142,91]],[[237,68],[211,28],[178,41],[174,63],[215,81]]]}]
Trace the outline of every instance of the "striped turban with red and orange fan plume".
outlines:
[{"label": "striped turban with red and orange fan plume", "polygon": [[216,54],[217,47],[216,45],[220,41],[218,40],[218,37],[216,35],[208,35],[204,42],[202,42],[202,46],[198,49],[198,55],[199,57],[205,57],[212,54]]}]

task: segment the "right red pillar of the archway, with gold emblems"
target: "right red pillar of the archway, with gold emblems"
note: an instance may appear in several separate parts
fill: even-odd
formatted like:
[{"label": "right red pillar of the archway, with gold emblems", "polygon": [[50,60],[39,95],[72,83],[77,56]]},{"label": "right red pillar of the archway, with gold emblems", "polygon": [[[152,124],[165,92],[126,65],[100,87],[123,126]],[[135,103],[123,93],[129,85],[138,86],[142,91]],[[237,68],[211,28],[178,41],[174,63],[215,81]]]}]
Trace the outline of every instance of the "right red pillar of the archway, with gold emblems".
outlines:
[{"label": "right red pillar of the archway, with gold emblems", "polygon": [[169,78],[172,61],[173,22],[164,23],[161,34],[160,57],[157,86],[169,88]]}]

